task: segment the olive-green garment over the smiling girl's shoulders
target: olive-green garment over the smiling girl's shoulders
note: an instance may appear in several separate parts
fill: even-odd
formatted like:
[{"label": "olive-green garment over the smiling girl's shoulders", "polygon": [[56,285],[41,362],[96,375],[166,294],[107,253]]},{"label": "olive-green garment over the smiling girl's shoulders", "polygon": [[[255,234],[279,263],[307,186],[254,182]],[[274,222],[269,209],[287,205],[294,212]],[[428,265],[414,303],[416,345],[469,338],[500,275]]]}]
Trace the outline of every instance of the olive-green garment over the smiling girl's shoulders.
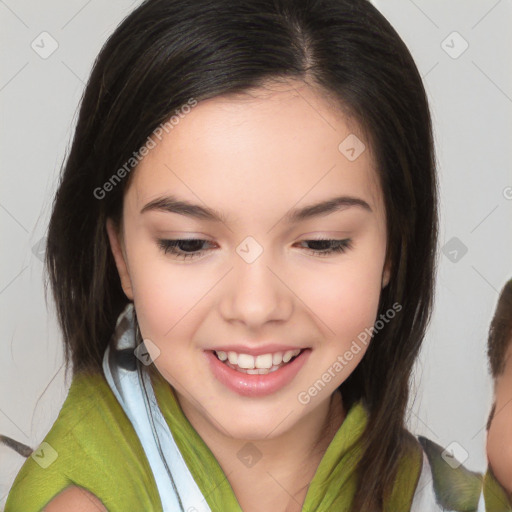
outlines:
[{"label": "olive-green garment over the smiling girl's shoulders", "polygon": [[[150,375],[162,414],[210,509],[212,512],[241,512],[229,481],[184,416],[172,387],[158,371]],[[347,510],[356,488],[354,468],[360,455],[358,440],[366,420],[367,413],[360,403],[350,408],[310,483],[304,511]],[[400,461],[386,511],[410,508],[422,459],[420,443],[416,448]],[[441,450],[431,442],[425,450],[435,473],[438,498],[447,500],[450,510],[476,510],[467,505],[478,501],[481,475],[468,472],[462,466],[458,470],[450,468],[446,473]],[[459,494],[454,496],[446,485],[447,474],[455,478],[457,486],[461,484],[469,490],[460,493],[460,497]],[[484,481],[487,511],[512,510],[492,475],[487,474]],[[5,512],[40,511],[70,485],[81,486],[98,496],[109,512],[162,511],[156,482],[140,440],[101,373],[74,376],[57,420],[16,476]]]}]

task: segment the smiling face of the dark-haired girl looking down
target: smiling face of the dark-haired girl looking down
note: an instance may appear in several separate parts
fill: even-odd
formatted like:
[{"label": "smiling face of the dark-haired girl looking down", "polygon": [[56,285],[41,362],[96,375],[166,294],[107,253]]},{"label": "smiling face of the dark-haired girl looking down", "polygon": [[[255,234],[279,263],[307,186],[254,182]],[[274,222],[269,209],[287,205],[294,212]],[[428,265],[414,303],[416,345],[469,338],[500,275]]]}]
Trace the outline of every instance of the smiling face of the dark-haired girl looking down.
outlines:
[{"label": "smiling face of the dark-haired girl looking down", "polygon": [[[273,438],[325,412],[367,349],[388,281],[375,163],[304,84],[178,119],[133,171],[119,238],[108,223],[123,289],[193,425]],[[245,367],[302,352],[256,375],[215,356],[230,349]]]}]

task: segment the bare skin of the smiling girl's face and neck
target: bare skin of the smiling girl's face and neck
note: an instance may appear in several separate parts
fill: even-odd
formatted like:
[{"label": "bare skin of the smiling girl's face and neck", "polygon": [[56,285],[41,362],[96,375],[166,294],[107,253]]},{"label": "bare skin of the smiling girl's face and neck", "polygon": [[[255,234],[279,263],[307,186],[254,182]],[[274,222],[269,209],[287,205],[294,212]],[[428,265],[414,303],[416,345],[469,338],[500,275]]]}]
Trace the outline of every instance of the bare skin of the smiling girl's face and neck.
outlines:
[{"label": "bare skin of the smiling girl's face and neck", "polygon": [[[355,161],[338,150],[351,133],[364,141],[355,122],[302,82],[202,101],[132,171],[121,232],[107,223],[142,336],[160,351],[154,364],[244,512],[301,509],[346,415],[334,391],[367,347],[309,403],[298,395],[373,326],[389,279],[385,210],[369,144]],[[224,222],[140,213],[169,194],[221,211]],[[296,224],[283,219],[292,208],[339,195],[363,199],[372,211],[350,206]],[[263,249],[250,264],[236,252],[247,236]],[[198,257],[179,259],[157,244],[187,237],[208,241],[197,246],[204,249]],[[315,237],[350,238],[352,248],[322,256],[327,246],[304,242]],[[226,388],[205,358],[221,344],[273,342],[312,352],[290,384],[265,397]],[[237,457],[247,441],[262,454],[251,468]]]}]

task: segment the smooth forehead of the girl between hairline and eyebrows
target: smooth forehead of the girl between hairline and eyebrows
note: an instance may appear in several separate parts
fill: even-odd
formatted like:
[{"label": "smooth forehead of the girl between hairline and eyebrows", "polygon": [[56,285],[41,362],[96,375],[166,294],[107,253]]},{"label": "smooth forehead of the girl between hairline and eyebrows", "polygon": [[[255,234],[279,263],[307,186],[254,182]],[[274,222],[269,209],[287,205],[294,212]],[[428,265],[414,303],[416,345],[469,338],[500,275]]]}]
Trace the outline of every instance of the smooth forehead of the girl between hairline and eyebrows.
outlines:
[{"label": "smooth forehead of the girl between hairline and eyebrows", "polygon": [[302,82],[201,101],[153,139],[133,171],[135,207],[172,193],[254,213],[339,193],[382,209],[371,147],[357,122]]}]

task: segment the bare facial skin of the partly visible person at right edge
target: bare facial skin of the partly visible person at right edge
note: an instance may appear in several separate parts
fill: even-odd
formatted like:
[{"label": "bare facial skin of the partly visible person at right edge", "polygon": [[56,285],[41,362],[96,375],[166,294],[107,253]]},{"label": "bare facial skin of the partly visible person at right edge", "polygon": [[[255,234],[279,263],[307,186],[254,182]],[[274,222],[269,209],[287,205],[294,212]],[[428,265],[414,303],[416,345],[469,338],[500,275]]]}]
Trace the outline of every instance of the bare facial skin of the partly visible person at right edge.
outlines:
[{"label": "bare facial skin of the partly visible person at right edge", "polygon": [[487,459],[496,479],[512,497],[512,340],[505,367],[494,381],[495,411],[487,432]]}]

